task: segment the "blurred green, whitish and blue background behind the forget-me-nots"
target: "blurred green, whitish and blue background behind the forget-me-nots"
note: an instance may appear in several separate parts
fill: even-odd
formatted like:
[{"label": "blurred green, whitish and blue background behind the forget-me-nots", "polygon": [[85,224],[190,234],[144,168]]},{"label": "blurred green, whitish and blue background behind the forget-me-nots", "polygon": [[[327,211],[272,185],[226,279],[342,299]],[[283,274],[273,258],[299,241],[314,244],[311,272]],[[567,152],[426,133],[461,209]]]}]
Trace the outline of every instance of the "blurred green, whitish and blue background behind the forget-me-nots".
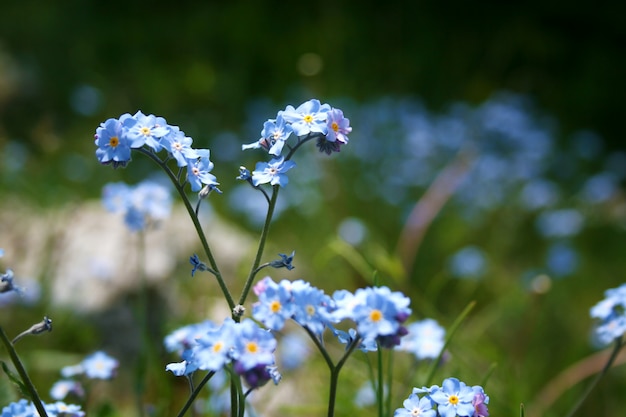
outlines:
[{"label": "blurred green, whitish and blue background behind the forget-me-nots", "polygon": [[[159,176],[141,155],[125,169],[100,166],[95,129],[142,110],[211,149],[224,194],[204,216],[239,289],[264,213],[235,177],[266,159],[240,147],[286,105],[319,98],[353,133],[339,154],[297,154],[266,251],[295,249],[297,268],[274,278],[330,294],[378,271],[412,298],[415,319],[444,327],[475,300],[435,383],[478,384],[497,363],[485,386],[493,415],[516,415],[520,403],[527,415],[564,415],[588,374],[546,393],[598,351],[589,308],[624,282],[625,12],[619,2],[3,1],[0,269],[27,291],[0,294],[0,325],[17,334],[53,318],[52,334],[20,342],[40,391],[60,366],[105,349],[122,382],[148,381],[156,415],[174,414],[187,387],[164,373],[178,359],[160,341],[221,321],[225,303],[206,276],[189,277],[199,245],[175,196],[171,217],[144,234],[102,207],[105,184]],[[147,333],[137,330],[146,307]],[[136,365],[146,356],[148,370]],[[346,370],[340,414],[358,407],[359,364]],[[16,394],[0,380],[5,404]],[[419,372],[411,381],[395,386],[398,407]],[[99,391],[96,415],[121,412],[111,398],[132,407],[122,382]],[[581,415],[620,415],[624,390],[616,367]],[[290,393],[260,413],[323,413],[325,392],[305,394],[303,409]]]}]

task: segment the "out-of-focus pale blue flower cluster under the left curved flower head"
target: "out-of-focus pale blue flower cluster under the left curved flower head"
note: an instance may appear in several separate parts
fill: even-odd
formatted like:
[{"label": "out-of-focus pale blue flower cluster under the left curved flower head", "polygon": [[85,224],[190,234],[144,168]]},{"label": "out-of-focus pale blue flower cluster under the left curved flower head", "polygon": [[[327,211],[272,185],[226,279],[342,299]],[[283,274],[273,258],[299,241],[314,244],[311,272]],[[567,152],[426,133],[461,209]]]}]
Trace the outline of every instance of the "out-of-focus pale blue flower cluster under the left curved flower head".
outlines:
[{"label": "out-of-focus pale blue flower cluster under the left curved flower head", "polygon": [[102,203],[107,210],[122,213],[124,223],[133,231],[168,218],[172,209],[167,187],[151,180],[135,186],[123,182],[106,184],[102,189]]}]

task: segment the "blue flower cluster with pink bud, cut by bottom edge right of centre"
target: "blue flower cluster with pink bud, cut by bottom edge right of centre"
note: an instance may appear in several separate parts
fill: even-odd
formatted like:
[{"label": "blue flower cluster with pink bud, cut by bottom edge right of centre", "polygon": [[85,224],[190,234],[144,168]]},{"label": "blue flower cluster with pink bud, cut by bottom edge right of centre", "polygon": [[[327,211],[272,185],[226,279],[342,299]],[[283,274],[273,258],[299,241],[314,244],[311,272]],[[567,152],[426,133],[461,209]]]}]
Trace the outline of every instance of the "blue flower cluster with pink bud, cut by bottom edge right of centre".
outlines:
[{"label": "blue flower cluster with pink bud, cut by bottom edge right of centre", "polygon": [[470,387],[456,378],[447,378],[441,387],[413,388],[402,404],[404,408],[396,409],[394,417],[487,417],[487,404],[489,396],[481,386]]}]

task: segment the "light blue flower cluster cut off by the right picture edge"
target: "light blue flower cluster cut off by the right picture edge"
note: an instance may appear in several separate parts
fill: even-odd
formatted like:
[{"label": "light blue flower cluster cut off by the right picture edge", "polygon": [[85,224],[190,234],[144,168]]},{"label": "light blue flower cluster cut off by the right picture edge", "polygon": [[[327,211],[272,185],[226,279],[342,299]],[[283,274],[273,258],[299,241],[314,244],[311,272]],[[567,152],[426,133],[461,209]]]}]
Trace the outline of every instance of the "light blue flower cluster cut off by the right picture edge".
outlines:
[{"label": "light blue flower cluster cut off by the right picture edge", "polygon": [[626,284],[606,290],[606,298],[591,308],[591,317],[598,319],[596,336],[603,344],[621,338],[626,332]]}]

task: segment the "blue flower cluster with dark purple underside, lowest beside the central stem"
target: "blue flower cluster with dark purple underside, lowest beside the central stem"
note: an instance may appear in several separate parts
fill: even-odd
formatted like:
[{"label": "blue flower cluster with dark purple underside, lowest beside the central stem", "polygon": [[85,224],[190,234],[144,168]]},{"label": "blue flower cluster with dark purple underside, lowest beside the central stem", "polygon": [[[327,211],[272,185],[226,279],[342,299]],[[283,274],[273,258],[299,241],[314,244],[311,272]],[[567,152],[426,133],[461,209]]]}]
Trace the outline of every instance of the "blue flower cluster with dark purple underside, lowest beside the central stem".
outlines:
[{"label": "blue flower cluster with dark purple underside, lowest beside the central stem", "polygon": [[280,380],[274,360],[276,339],[251,319],[241,323],[226,319],[221,326],[211,322],[186,326],[167,336],[165,345],[169,350],[182,350],[183,361],[165,368],[176,376],[198,369],[217,372],[231,364],[250,388]]}]

